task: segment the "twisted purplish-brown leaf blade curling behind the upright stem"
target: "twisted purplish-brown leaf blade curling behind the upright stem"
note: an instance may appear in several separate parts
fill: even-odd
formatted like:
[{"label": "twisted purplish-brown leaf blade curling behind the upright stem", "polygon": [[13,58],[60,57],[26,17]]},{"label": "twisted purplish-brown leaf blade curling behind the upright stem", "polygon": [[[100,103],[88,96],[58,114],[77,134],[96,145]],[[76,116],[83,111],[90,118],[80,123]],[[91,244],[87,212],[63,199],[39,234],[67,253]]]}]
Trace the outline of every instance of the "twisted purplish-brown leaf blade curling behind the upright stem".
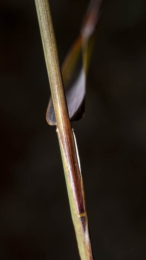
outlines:
[{"label": "twisted purplish-brown leaf blade curling behind the upright stem", "polygon": [[[99,19],[100,3],[101,0],[91,1],[83,21],[81,34],[62,65],[62,77],[71,121],[80,120],[84,116],[86,76],[92,53],[92,35]],[[46,120],[50,125],[57,124],[52,97],[49,100]]]}]

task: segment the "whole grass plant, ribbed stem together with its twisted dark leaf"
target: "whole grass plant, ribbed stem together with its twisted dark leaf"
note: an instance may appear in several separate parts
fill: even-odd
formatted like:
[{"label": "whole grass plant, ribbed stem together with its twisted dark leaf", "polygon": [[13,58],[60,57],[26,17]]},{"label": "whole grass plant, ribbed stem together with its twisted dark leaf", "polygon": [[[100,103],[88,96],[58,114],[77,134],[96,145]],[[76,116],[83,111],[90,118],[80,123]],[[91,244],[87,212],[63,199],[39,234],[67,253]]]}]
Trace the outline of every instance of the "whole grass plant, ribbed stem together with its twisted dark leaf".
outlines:
[{"label": "whole grass plant, ribbed stem together with its twisted dark leaf", "polygon": [[83,22],[81,34],[64,62],[62,69],[64,82],[66,85],[70,85],[70,80],[79,62],[79,56],[80,54],[82,55],[77,80],[66,94],[49,2],[48,0],[35,0],[35,4],[51,87],[51,99],[47,110],[47,121],[51,125],[57,125],[56,132],[60,144],[71,216],[75,228],[80,258],[81,260],[92,260],[93,254],[80,160],[75,135],[71,127],[71,120],[80,119],[84,114],[86,75],[89,57],[91,56],[89,40],[91,39],[95,24],[98,20],[99,1],[91,2]]}]

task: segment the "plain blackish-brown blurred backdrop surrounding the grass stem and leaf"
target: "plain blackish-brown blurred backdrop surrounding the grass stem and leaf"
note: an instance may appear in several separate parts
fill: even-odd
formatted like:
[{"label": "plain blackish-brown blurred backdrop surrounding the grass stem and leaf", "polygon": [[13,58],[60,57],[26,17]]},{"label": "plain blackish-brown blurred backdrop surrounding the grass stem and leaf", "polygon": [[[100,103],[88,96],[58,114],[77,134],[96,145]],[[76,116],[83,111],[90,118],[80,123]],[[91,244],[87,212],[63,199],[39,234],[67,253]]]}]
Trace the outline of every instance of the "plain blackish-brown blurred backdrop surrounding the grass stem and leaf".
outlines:
[{"label": "plain blackish-brown blurred backdrop surrounding the grass stem and leaf", "polygon": [[[50,5],[62,63],[88,1]],[[0,259],[79,259],[35,2],[2,0],[0,20]],[[73,123],[95,259],[146,259],[145,31],[145,0],[104,2]]]}]

